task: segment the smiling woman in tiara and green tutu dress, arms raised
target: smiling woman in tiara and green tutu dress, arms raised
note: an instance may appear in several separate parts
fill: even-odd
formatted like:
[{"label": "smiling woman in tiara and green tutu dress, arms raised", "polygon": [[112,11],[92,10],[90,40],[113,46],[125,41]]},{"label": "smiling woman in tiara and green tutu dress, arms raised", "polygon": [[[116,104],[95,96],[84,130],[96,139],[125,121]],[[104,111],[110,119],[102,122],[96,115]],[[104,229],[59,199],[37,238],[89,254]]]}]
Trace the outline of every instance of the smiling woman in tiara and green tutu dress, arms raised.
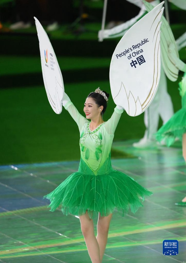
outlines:
[{"label": "smiling woman in tiara and green tutu dress, arms raised", "polygon": [[[50,211],[59,205],[64,214],[77,215],[92,262],[102,262],[112,213],[117,208],[133,213],[142,206],[144,195],[151,195],[126,174],[111,167],[111,145],[123,108],[116,106],[111,118],[104,122],[103,114],[109,94],[99,88],[86,98],[80,115],[65,94],[63,106],[68,110],[80,131],[81,159],[78,172],[71,174],[53,192],[44,196],[51,201]],[[90,119],[89,122],[87,119]],[[94,235],[93,213],[99,213],[97,236]]]}]

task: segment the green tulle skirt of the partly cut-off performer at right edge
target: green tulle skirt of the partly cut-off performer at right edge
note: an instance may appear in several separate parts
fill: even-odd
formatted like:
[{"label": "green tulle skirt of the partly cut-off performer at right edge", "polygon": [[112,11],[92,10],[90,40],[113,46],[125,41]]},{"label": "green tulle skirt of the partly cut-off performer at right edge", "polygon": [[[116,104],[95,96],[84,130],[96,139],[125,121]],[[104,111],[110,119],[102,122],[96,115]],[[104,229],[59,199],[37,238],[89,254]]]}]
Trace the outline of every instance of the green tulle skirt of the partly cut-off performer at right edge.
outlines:
[{"label": "green tulle skirt of the partly cut-off performer at right edge", "polygon": [[170,146],[175,138],[182,140],[183,134],[186,132],[186,109],[178,110],[156,133],[156,140],[164,141]]}]

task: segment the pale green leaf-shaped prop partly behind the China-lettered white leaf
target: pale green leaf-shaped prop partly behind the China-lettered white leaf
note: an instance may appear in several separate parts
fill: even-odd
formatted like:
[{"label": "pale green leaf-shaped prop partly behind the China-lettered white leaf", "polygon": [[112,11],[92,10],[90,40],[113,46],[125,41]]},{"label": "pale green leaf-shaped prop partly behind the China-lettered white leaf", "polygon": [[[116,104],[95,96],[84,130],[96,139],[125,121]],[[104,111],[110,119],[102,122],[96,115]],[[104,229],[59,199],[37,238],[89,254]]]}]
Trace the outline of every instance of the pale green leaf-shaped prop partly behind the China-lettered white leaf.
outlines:
[{"label": "pale green leaf-shaped prop partly behind the China-lettered white leaf", "polygon": [[[143,1],[144,5],[147,9],[147,11],[151,11],[154,6],[152,6],[150,3]],[[179,69],[176,67],[175,63],[172,61],[171,56],[169,55],[169,46],[172,44],[173,46],[173,54],[176,54],[176,57],[179,60],[179,53],[178,48],[175,42],[175,38],[173,36],[173,32],[170,28],[170,25],[168,24],[166,18],[162,16],[161,18],[162,25],[161,25],[161,58],[162,58],[162,64],[163,69],[165,71],[165,74],[171,81],[176,81],[178,79],[178,72]]]}]

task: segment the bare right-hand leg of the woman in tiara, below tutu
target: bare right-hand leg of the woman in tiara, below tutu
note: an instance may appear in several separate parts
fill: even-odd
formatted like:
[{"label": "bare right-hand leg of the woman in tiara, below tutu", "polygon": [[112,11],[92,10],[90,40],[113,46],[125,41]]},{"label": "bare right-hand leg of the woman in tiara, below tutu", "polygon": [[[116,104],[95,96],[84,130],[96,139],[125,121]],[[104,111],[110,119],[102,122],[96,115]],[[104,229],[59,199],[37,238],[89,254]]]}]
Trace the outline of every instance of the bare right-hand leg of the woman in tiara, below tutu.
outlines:
[{"label": "bare right-hand leg of the woman in tiara, below tutu", "polygon": [[109,214],[107,217],[101,217],[99,213],[98,222],[97,222],[97,242],[99,244],[100,258],[103,259],[103,255],[106,248],[107,238],[108,238],[108,229],[111,222],[112,214]]}]

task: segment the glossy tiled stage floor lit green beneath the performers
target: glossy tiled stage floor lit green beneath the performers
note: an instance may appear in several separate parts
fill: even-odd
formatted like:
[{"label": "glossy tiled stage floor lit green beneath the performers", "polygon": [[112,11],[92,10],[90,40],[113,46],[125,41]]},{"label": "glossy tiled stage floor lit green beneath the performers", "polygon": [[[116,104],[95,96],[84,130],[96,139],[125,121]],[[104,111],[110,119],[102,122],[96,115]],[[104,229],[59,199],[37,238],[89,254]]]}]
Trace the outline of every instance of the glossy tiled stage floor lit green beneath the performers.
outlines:
[{"label": "glossy tiled stage floor lit green beneath the performers", "polygon": [[[186,167],[181,144],[138,150],[132,141],[113,148],[135,156],[113,159],[118,169],[154,194],[136,214],[114,213],[103,262],[186,262]],[[0,166],[0,262],[91,262],[77,217],[49,212],[43,195],[78,169],[78,162]],[[97,218],[94,219],[96,225]],[[95,228],[96,230],[96,228]],[[179,254],[165,256],[163,240],[178,240]]]}]

